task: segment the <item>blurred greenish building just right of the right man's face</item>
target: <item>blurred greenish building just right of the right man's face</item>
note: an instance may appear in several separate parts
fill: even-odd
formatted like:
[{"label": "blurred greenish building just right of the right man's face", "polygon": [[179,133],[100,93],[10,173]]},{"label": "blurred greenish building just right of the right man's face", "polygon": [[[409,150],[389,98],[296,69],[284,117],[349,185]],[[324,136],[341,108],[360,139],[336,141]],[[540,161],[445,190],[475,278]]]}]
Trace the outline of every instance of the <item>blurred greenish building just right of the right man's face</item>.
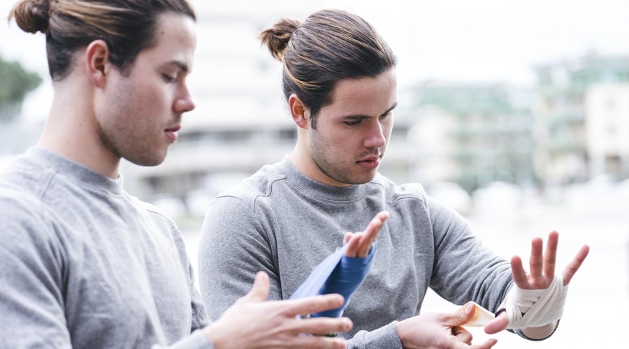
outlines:
[{"label": "blurred greenish building just right of the right man's face", "polygon": [[424,82],[412,91],[413,163],[420,181],[533,181],[533,119],[527,91],[504,84]]}]

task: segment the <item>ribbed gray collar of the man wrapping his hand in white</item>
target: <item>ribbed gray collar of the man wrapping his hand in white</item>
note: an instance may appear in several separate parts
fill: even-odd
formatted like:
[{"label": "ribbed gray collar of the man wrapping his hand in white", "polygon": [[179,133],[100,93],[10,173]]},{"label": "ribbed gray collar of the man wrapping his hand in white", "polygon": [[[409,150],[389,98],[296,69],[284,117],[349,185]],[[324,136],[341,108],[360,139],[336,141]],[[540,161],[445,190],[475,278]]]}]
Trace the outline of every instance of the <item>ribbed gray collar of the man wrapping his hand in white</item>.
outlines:
[{"label": "ribbed gray collar of the man wrapping his hand in white", "polygon": [[280,170],[286,174],[286,180],[291,186],[299,188],[306,195],[316,196],[331,202],[351,202],[361,200],[366,195],[370,183],[353,186],[338,187],[315,181],[295,167],[289,155],[280,162]]}]

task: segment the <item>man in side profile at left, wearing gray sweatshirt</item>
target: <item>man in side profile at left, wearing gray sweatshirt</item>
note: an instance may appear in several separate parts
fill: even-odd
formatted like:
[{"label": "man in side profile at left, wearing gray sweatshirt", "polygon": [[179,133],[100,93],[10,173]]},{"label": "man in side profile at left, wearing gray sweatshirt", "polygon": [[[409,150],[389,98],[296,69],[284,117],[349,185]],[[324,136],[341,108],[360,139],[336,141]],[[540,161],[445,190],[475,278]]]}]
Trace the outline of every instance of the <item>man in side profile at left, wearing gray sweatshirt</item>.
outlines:
[{"label": "man in side profile at left, wearing gray sweatshirt", "polygon": [[263,272],[210,323],[175,223],[122,187],[120,159],[161,163],[194,108],[187,1],[22,0],[13,19],[45,34],[54,97],[0,175],[0,348],[345,348],[311,334],[347,318],[296,318],[340,295],[263,302]]}]

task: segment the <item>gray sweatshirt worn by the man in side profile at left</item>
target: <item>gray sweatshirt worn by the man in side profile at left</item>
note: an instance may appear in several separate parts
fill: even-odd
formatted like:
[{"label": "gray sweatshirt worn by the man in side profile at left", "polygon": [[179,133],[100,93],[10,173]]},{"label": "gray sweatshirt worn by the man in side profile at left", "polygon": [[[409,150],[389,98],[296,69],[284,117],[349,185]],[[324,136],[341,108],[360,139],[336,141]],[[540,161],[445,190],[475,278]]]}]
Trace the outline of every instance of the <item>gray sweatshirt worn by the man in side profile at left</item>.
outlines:
[{"label": "gray sweatshirt worn by the man in side profile at left", "polygon": [[193,281],[175,223],[122,177],[41,148],[1,174],[0,348],[212,348]]}]

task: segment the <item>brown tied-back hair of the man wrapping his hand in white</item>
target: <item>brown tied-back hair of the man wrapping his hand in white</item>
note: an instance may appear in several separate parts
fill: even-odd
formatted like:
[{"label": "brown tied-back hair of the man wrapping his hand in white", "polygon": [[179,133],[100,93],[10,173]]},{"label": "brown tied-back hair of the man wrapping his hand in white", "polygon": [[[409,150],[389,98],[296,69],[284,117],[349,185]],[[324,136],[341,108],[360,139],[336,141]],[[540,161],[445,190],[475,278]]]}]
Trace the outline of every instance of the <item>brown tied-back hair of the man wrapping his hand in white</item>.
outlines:
[{"label": "brown tied-back hair of the man wrapping his hand in white", "polygon": [[332,103],[337,82],[376,77],[397,63],[389,45],[366,20],[342,10],[321,10],[303,24],[284,18],[259,38],[284,63],[284,96],[301,98],[313,128],[321,107]]}]

